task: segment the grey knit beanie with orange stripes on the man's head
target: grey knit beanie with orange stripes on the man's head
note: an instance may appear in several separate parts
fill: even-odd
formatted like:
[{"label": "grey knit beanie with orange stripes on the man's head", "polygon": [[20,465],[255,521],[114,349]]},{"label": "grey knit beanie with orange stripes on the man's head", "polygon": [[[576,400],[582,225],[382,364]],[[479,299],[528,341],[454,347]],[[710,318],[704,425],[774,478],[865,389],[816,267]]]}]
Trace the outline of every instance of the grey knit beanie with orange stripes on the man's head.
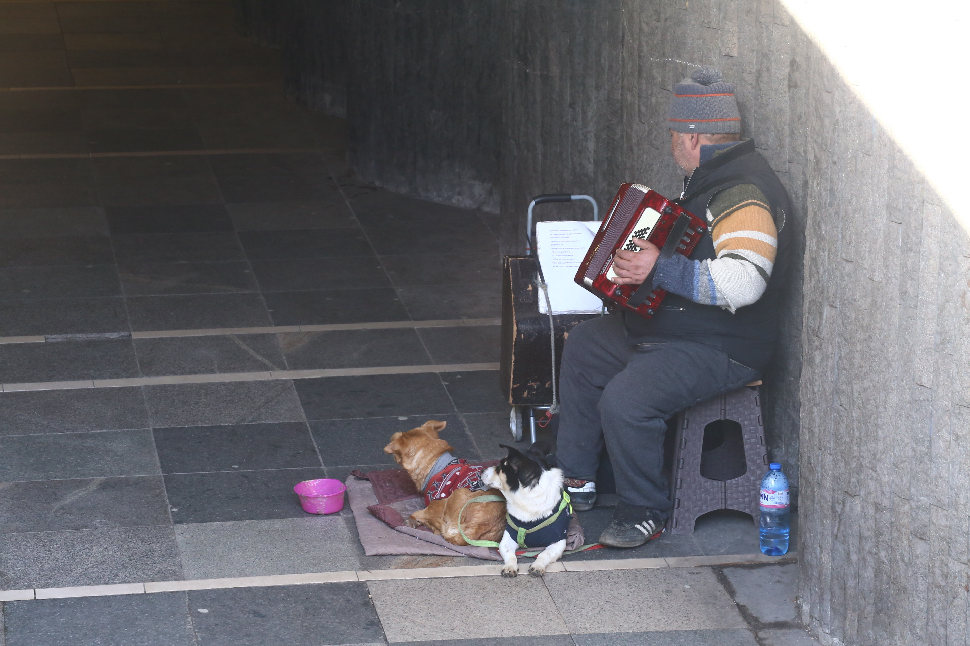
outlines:
[{"label": "grey knit beanie with orange stripes on the man's head", "polygon": [[717,68],[702,65],[673,89],[667,124],[678,133],[740,133],[734,86]]}]

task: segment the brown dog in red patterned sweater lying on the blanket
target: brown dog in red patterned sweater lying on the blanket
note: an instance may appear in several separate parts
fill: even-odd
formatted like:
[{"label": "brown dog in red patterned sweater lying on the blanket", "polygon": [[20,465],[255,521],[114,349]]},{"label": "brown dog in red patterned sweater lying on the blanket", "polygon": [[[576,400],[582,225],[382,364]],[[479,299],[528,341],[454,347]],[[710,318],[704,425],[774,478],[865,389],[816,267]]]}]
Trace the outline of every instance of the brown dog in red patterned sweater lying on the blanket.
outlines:
[{"label": "brown dog in red patterned sweater lying on the blanket", "polygon": [[[394,461],[404,467],[418,491],[425,494],[428,507],[415,511],[407,519],[410,527],[424,525],[437,536],[455,545],[468,545],[458,531],[458,513],[472,498],[486,494],[501,496],[498,489],[480,485],[477,475],[481,468],[470,467],[452,459],[453,450],[447,442],[437,437],[446,422],[428,421],[420,428],[395,433],[384,452],[394,456]],[[477,470],[477,471],[476,471]],[[435,472],[435,473],[433,473]],[[454,474],[456,477],[450,477]],[[480,489],[459,486],[449,491],[447,485],[470,482]],[[433,490],[433,491],[432,491]],[[434,496],[434,500],[430,498]],[[472,540],[499,540],[505,531],[505,503],[474,503],[462,514],[462,529]]]}]

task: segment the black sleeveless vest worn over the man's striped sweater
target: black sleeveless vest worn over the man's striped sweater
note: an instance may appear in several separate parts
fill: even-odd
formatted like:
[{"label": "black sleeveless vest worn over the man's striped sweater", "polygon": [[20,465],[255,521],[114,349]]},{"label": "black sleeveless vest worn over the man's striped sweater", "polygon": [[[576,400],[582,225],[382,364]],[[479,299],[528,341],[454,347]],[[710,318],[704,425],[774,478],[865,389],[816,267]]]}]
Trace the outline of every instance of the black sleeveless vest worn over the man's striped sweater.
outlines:
[{"label": "black sleeveless vest worn over the man's striped sweater", "polygon": [[[730,358],[763,370],[778,338],[778,310],[781,295],[788,285],[792,265],[792,227],[786,223],[792,212],[785,187],[767,160],[748,139],[727,149],[697,167],[685,181],[683,198],[678,202],[700,218],[706,219],[707,206],[717,193],[737,184],[754,184],[771,206],[778,230],[778,252],[768,286],[760,299],[738,308],[734,314],[716,305],[700,305],[674,293],[667,293],[653,319],[625,313],[632,337],[662,336],[696,341],[724,350]],[[697,243],[689,257],[692,261],[717,258],[710,231]]]}]

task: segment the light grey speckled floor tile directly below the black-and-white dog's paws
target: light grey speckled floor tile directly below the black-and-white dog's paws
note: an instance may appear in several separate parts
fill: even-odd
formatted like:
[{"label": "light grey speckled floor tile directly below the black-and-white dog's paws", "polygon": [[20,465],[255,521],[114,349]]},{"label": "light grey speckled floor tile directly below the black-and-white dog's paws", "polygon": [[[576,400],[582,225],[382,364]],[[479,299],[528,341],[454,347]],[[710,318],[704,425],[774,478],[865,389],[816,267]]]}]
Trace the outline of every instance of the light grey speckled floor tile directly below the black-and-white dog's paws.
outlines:
[{"label": "light grey speckled floor tile directly below the black-and-white dog's paws", "polygon": [[542,580],[531,576],[371,581],[368,588],[391,643],[568,633]]}]

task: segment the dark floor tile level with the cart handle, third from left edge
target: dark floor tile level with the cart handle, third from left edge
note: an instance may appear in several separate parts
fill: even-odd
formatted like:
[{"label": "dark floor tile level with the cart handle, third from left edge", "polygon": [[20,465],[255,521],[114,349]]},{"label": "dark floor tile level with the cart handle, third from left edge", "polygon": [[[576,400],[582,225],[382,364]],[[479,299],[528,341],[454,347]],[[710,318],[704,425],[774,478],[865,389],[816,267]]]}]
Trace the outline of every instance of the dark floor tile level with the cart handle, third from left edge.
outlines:
[{"label": "dark floor tile level with the cart handle, third from left edge", "polygon": [[226,204],[236,231],[357,229],[357,219],[339,193],[330,200]]}]

